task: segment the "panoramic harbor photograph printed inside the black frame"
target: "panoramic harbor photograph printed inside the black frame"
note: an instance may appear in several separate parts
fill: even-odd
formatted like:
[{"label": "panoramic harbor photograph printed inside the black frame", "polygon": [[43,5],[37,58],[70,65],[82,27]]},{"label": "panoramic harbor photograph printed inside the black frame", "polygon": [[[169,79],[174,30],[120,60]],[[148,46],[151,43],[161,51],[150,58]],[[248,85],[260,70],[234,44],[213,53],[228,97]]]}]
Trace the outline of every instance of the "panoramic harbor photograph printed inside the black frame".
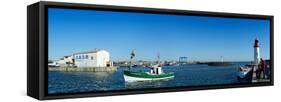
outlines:
[{"label": "panoramic harbor photograph printed inside the black frame", "polygon": [[48,8],[48,94],[270,82],[270,21]]}]

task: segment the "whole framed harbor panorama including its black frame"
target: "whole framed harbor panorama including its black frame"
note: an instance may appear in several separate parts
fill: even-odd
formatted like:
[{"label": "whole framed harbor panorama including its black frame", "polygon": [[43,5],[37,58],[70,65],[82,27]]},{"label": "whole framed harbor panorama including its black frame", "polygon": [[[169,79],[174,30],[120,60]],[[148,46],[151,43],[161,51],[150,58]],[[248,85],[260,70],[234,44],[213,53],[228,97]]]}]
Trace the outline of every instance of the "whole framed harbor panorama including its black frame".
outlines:
[{"label": "whole framed harbor panorama including its black frame", "polygon": [[45,100],[273,85],[273,16],[29,5],[27,94]]}]

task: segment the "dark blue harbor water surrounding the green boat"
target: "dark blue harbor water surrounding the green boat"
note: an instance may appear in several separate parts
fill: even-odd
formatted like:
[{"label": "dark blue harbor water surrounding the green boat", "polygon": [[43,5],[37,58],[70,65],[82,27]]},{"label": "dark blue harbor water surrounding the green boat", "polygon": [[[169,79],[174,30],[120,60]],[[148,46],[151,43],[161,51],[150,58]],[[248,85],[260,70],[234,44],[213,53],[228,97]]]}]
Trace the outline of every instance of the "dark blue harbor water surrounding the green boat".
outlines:
[{"label": "dark blue harbor water surrounding the green boat", "polygon": [[[173,79],[133,83],[124,81],[123,71],[128,69],[125,67],[120,67],[114,72],[49,71],[48,93],[63,94],[245,83],[237,79],[239,66],[245,64],[249,64],[249,62],[236,62],[229,66],[208,66],[206,64],[163,66],[164,72],[174,72]],[[136,67],[132,70],[149,71],[149,68]]]}]

